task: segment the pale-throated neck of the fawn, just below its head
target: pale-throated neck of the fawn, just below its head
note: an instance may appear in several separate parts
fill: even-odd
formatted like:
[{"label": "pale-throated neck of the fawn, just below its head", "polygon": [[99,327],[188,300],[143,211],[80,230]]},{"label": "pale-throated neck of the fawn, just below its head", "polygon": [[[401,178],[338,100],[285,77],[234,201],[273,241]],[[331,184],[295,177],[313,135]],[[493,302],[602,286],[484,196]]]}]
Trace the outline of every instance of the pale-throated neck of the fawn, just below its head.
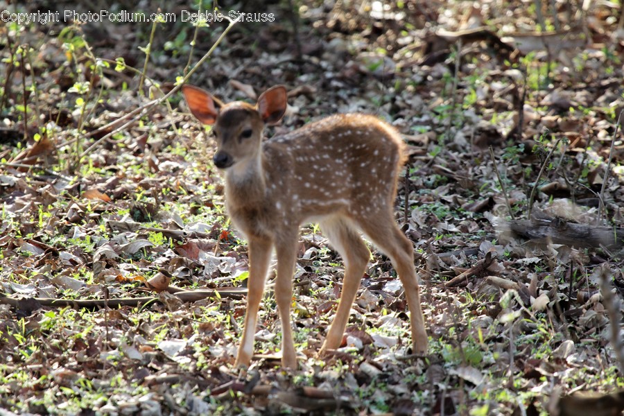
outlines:
[{"label": "pale-throated neck of the fawn, just below its head", "polygon": [[235,164],[225,173],[225,198],[230,204],[241,206],[257,204],[265,196],[262,155]]}]

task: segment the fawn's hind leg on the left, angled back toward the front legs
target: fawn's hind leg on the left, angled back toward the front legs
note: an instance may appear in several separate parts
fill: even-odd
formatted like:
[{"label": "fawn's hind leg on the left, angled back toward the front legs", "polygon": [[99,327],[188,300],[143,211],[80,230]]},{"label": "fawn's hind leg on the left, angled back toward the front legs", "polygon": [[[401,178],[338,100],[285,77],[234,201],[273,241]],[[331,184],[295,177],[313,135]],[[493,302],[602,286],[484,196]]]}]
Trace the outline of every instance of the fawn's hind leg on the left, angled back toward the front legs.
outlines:
[{"label": "fawn's hind leg on the left, angled back toward the front legs", "polygon": [[321,229],[329,238],[331,245],[343,257],[345,278],[343,279],[343,293],[340,295],[336,317],[331,322],[320,354],[327,349],[340,347],[347,322],[349,321],[349,312],[370,258],[370,251],[361,236],[345,218],[328,218],[321,223]]}]

